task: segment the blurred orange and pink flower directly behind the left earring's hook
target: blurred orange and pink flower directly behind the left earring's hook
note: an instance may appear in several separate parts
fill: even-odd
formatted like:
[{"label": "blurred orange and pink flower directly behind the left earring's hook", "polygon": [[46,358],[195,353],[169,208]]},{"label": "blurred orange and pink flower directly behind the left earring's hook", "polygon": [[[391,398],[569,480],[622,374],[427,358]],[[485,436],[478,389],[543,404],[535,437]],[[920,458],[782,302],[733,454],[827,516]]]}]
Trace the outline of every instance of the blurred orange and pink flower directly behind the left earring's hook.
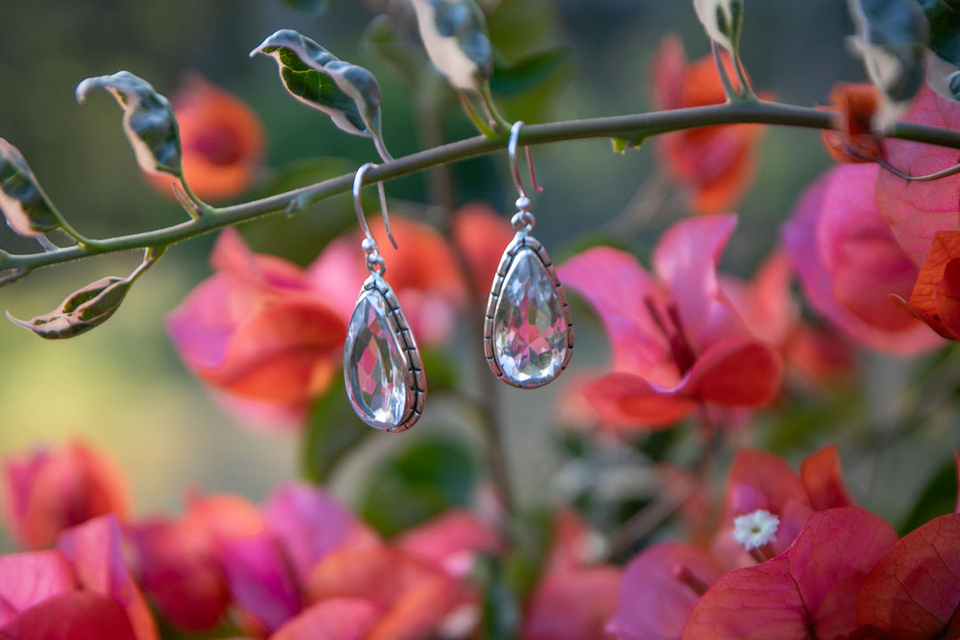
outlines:
[{"label": "blurred orange and pink flower directly behind the left earring's hook", "polygon": [[[390,227],[399,246],[394,249],[383,222],[374,218],[369,222],[387,263],[387,279],[417,342],[444,342],[452,334],[456,313],[466,300],[463,278],[444,237],[429,225],[394,215]],[[361,237],[356,232],[334,240],[308,273],[313,290],[336,305],[348,320],[369,275],[360,249]]]}]

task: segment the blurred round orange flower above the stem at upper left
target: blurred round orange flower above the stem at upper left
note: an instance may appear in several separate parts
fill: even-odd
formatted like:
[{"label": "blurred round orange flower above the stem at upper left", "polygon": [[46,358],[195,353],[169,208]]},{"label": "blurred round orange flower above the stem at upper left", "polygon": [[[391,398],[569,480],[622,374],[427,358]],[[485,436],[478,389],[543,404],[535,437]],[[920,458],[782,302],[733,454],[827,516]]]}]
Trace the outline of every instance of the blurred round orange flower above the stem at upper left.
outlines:
[{"label": "blurred round orange flower above the stem at upper left", "polygon": [[[242,100],[193,76],[171,102],[180,128],[183,176],[202,200],[232,200],[250,189],[263,166],[265,135],[259,117]],[[174,178],[151,175],[156,189],[173,196]]]}]

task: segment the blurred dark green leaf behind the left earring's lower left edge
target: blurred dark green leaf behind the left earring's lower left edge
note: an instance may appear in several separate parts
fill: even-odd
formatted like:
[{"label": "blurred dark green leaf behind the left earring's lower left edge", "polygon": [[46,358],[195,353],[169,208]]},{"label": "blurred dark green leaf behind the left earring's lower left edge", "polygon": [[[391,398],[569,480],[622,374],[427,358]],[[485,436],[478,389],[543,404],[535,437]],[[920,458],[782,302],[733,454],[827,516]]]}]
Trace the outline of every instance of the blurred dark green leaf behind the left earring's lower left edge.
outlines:
[{"label": "blurred dark green leaf behind the left earring's lower left edge", "polygon": [[353,413],[343,376],[335,378],[310,411],[303,439],[303,475],[314,483],[326,482],[339,462],[378,433]]}]

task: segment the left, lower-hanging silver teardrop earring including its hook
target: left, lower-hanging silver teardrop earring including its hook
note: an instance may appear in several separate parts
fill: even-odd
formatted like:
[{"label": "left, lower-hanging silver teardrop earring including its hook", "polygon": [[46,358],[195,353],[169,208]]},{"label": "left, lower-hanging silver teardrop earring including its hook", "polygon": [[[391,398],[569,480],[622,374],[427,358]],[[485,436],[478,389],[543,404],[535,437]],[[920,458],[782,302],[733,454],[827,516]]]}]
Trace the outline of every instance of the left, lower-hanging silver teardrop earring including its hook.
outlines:
[{"label": "left, lower-hanging silver teardrop earring including its hook", "polygon": [[[350,317],[344,348],[344,380],[350,405],[361,420],[374,429],[399,432],[406,431],[420,419],[426,381],[420,350],[393,289],[383,279],[386,263],[364,217],[360,190],[364,174],[372,166],[372,163],[363,165],[353,178],[353,205],[366,235],[361,246],[367,253],[370,277],[364,282]],[[377,188],[387,236],[396,248],[387,218],[383,183],[378,182]]]}]

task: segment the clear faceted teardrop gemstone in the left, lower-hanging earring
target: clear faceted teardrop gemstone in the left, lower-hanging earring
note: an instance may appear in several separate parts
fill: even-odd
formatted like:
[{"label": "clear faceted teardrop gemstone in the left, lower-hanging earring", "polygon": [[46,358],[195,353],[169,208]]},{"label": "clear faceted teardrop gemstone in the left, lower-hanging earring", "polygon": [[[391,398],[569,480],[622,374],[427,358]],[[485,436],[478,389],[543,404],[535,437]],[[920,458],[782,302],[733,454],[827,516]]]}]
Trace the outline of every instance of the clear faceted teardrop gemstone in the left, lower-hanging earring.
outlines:
[{"label": "clear faceted teardrop gemstone in the left, lower-hanging earring", "polygon": [[353,309],[344,350],[350,404],[377,429],[396,427],[410,403],[406,361],[387,318],[389,312],[380,292],[365,291]]}]

